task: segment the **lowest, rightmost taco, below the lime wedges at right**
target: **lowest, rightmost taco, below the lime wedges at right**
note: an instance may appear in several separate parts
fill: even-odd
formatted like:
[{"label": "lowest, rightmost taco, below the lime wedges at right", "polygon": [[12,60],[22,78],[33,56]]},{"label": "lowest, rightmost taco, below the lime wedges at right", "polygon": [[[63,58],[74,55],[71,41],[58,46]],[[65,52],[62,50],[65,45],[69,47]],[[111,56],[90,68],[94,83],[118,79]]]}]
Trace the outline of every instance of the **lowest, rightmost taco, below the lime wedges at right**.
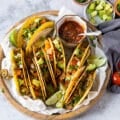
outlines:
[{"label": "lowest, rightmost taco, below the lime wedges at right", "polygon": [[69,101],[65,102],[65,108],[72,109],[75,106],[83,102],[91,90],[94,80],[96,78],[96,71],[87,72],[84,71],[79,78],[79,83],[72,92]]}]

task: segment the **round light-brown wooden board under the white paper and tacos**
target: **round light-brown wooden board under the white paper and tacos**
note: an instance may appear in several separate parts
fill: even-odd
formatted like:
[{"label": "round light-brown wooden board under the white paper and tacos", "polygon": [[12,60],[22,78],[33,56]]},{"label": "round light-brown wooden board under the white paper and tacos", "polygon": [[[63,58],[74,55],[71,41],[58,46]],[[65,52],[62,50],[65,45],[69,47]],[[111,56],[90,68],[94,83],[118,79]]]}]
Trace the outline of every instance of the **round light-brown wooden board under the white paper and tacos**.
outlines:
[{"label": "round light-brown wooden board under the white paper and tacos", "polygon": [[[34,15],[54,15],[57,16],[58,15],[58,11],[44,11],[44,12],[39,12],[39,13],[35,13],[31,16]],[[28,16],[30,17],[30,16]],[[26,17],[26,18],[28,18]],[[24,22],[24,20],[26,19],[22,19],[20,22],[16,23],[9,31],[8,33],[15,28],[17,25],[21,24],[22,22]],[[94,26],[92,26],[90,23],[88,23],[88,27],[90,27],[93,31],[96,30],[96,28]],[[98,37],[99,42],[101,41],[102,36]],[[2,51],[2,48],[0,46],[0,65],[2,62],[2,59],[4,57],[4,53]],[[108,69],[106,70],[106,80],[105,83],[100,91],[100,93],[98,94],[98,96],[93,99],[88,105],[86,106],[82,106],[81,108],[79,108],[78,110],[75,110],[73,112],[69,112],[69,113],[64,113],[64,114],[58,114],[58,115],[44,115],[44,114],[40,114],[40,113],[36,113],[36,112],[32,112],[26,108],[24,108],[21,104],[19,104],[11,95],[11,93],[9,92],[5,82],[3,79],[0,78],[0,88],[4,89],[4,95],[6,96],[6,98],[8,99],[8,101],[16,108],[18,109],[20,112],[29,115],[30,117],[33,117],[35,119],[40,119],[40,120],[65,120],[65,119],[70,119],[72,117],[81,115],[82,113],[86,112],[87,110],[89,110],[93,105],[95,105],[95,103],[99,100],[99,98],[103,95],[108,81],[109,81],[109,76],[110,76],[111,70],[108,67]]]}]

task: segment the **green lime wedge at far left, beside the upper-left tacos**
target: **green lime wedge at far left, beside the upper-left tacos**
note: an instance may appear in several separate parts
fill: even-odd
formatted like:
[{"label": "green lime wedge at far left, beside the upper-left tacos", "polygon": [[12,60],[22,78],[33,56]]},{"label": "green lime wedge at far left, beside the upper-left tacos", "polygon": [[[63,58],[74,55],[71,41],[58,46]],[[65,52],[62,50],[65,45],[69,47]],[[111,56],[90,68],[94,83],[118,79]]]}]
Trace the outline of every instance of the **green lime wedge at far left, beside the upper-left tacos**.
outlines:
[{"label": "green lime wedge at far left, beside the upper-left tacos", "polygon": [[14,29],[9,36],[9,41],[13,46],[17,46],[17,30]]}]

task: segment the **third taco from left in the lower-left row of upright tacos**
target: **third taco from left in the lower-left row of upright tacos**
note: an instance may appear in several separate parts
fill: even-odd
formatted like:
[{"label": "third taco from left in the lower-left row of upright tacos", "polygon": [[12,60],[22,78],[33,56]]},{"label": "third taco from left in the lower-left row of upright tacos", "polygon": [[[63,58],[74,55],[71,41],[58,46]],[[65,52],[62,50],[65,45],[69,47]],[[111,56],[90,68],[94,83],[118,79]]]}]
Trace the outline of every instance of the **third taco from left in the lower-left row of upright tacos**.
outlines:
[{"label": "third taco from left in the lower-left row of upright tacos", "polygon": [[50,74],[51,72],[44,56],[44,50],[42,48],[33,47],[33,54],[38,75],[44,83],[42,87],[46,92],[46,98],[48,98],[56,91],[54,81],[52,80],[53,76]]}]

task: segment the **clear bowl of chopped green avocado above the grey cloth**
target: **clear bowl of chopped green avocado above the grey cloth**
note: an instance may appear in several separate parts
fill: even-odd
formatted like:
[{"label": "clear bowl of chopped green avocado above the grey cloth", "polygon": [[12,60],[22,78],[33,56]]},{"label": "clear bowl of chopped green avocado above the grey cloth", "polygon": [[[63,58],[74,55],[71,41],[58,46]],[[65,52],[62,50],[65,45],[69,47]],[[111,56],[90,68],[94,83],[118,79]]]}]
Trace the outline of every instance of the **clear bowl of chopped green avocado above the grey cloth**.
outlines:
[{"label": "clear bowl of chopped green avocado above the grey cloth", "polygon": [[86,7],[86,17],[93,25],[111,21],[115,12],[110,2],[106,0],[93,0]]}]

